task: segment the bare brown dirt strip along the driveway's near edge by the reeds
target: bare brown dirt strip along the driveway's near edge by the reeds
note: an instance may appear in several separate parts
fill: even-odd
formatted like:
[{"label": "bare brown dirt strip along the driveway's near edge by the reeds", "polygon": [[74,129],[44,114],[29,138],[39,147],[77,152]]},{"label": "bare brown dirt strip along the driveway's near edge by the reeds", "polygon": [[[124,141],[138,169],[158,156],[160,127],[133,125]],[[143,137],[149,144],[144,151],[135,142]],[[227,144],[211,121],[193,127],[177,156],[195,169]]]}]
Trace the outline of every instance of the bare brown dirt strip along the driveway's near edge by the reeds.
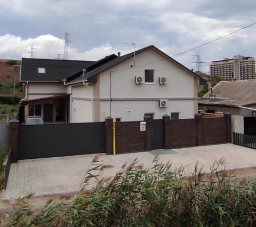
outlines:
[{"label": "bare brown dirt strip along the driveway's near edge by the reeds", "polygon": [[[256,179],[256,166],[249,167],[249,168],[239,168],[239,169],[232,169],[227,171],[237,177],[238,181],[244,181],[248,179]],[[0,191],[0,197],[2,197],[3,189]],[[28,201],[30,205],[33,206],[33,210],[35,212],[39,212],[46,202],[49,200],[60,200],[63,196],[67,197],[67,202],[73,201],[77,197],[77,193],[71,193],[71,194],[54,194],[51,196],[39,196],[39,197],[33,197],[31,195],[28,199],[25,201]],[[20,199],[16,199],[13,201],[4,201],[0,200],[0,226],[8,226],[8,222],[15,214],[15,210],[19,207]],[[2,221],[2,223],[1,223]]]}]

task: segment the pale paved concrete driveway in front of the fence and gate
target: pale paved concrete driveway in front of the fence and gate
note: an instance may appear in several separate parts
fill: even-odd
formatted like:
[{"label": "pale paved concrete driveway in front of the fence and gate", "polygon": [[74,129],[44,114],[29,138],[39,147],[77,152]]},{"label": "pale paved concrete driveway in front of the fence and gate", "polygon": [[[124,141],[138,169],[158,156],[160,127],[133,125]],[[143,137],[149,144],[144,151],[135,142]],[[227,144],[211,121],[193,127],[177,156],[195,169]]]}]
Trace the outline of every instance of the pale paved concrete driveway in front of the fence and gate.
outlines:
[{"label": "pale paved concrete driveway in front of the fence and gate", "polygon": [[30,193],[44,196],[77,192],[86,171],[95,165],[106,165],[102,176],[114,176],[124,163],[132,163],[134,158],[138,158],[144,167],[150,167],[156,155],[160,162],[172,163],[173,169],[186,166],[187,174],[193,171],[197,162],[199,167],[203,166],[205,172],[210,172],[212,165],[221,158],[226,161],[226,169],[256,166],[256,150],[231,143],[116,156],[100,154],[97,163],[92,163],[97,155],[20,160],[17,164],[11,164],[9,181],[2,200],[12,200]]}]

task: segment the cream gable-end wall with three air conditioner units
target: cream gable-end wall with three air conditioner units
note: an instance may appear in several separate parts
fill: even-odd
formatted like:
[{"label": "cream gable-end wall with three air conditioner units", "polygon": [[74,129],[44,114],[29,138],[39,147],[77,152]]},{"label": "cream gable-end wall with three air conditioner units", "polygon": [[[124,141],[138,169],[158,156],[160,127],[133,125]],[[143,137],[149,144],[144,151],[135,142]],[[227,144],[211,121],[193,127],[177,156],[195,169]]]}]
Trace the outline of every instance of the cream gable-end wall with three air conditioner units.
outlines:
[{"label": "cream gable-end wall with three air conditioner units", "polygon": [[[154,113],[154,118],[159,119],[165,114],[180,112],[180,118],[194,118],[194,100],[188,100],[195,98],[194,77],[167,59],[158,61],[161,59],[164,56],[147,50],[136,56],[137,68],[130,67],[134,63],[132,58],[111,69],[111,117],[121,117],[122,121],[141,120],[147,112]],[[142,66],[155,61],[158,62]],[[135,84],[135,76],[144,77],[145,69],[155,70],[155,83]],[[159,77],[167,77],[167,84],[159,85]],[[110,98],[110,70],[100,74],[99,99],[106,98]],[[124,100],[115,101],[116,98]],[[158,99],[169,100],[167,107],[159,108]],[[107,116],[110,116],[110,101],[101,100],[100,119]]]}]

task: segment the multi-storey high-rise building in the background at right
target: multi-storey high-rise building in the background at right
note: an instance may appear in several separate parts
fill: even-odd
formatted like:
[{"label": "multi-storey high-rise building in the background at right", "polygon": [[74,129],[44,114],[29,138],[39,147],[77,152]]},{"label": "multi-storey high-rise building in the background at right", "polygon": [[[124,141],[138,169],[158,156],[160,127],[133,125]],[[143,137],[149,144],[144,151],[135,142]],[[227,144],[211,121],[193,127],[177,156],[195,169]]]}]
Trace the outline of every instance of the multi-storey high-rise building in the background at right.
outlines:
[{"label": "multi-storey high-rise building in the background at right", "polygon": [[255,59],[250,56],[235,55],[234,59],[212,61],[210,75],[225,80],[256,79]]}]

